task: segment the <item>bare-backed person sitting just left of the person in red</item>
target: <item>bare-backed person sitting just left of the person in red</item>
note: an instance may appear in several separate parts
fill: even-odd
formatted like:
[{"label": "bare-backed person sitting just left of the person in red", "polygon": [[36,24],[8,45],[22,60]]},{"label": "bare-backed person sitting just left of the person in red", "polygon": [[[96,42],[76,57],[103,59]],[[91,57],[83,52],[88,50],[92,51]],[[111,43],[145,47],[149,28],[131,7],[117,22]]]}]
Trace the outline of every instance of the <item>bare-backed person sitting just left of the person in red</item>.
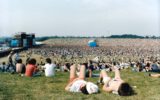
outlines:
[{"label": "bare-backed person sitting just left of the person in red", "polygon": [[19,74],[24,74],[25,70],[26,68],[25,65],[22,63],[22,59],[18,59],[16,64],[16,72]]}]

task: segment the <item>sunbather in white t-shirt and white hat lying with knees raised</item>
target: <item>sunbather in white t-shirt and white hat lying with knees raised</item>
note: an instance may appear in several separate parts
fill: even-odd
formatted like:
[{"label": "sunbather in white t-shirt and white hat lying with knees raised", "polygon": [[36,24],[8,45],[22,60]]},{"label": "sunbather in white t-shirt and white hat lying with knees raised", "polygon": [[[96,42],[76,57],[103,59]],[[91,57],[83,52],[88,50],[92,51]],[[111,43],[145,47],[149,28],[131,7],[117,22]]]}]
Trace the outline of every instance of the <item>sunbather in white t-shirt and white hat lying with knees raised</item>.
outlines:
[{"label": "sunbather in white t-shirt and white hat lying with knees raised", "polygon": [[85,81],[85,65],[81,65],[80,74],[76,77],[75,64],[70,67],[70,79],[69,83],[65,87],[66,91],[70,92],[82,92],[83,94],[98,93],[98,86],[92,82]]}]

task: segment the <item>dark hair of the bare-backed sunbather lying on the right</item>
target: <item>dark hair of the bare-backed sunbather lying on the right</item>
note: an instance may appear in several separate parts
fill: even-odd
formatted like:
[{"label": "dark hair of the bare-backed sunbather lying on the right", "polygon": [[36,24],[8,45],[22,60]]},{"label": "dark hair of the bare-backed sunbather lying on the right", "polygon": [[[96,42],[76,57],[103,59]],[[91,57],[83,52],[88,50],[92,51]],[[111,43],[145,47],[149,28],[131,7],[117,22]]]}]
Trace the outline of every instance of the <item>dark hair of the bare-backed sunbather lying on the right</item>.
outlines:
[{"label": "dark hair of the bare-backed sunbather lying on the right", "polygon": [[120,96],[130,96],[133,94],[133,89],[128,83],[122,83],[118,88]]}]

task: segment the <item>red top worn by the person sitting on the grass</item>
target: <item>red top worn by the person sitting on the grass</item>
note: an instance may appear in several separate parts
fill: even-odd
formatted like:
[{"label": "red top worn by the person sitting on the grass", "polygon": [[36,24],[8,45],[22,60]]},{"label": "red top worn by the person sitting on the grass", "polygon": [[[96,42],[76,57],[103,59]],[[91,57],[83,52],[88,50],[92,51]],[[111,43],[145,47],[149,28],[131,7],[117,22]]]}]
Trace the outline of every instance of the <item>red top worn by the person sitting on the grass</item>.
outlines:
[{"label": "red top worn by the person sitting on the grass", "polygon": [[26,66],[25,76],[32,77],[33,73],[36,72],[36,66],[28,64]]}]

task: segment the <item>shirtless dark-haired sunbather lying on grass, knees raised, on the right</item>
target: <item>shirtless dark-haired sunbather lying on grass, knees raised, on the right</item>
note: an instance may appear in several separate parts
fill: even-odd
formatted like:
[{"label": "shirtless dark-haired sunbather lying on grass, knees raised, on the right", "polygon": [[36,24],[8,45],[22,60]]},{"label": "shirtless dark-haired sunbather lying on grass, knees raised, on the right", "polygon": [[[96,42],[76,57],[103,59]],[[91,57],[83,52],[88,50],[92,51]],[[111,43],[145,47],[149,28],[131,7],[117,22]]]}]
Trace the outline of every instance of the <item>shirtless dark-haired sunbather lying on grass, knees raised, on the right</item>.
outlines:
[{"label": "shirtless dark-haired sunbather lying on grass, knees raised, on the right", "polygon": [[114,94],[119,94],[120,96],[130,96],[133,94],[133,89],[131,86],[124,82],[120,77],[120,71],[117,67],[114,67],[115,77],[111,79],[105,70],[100,73],[99,81],[104,83],[103,90],[106,92],[112,92]]}]

